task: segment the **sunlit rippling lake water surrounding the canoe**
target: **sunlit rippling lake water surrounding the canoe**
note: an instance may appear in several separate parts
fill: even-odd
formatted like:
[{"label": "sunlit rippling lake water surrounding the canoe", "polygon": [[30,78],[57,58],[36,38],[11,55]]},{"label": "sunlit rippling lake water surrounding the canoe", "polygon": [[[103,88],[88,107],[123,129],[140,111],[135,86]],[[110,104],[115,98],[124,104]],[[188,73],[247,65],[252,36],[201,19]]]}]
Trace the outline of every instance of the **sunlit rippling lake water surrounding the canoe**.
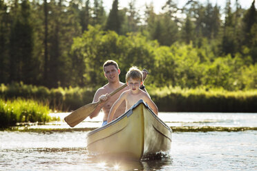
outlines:
[{"label": "sunlit rippling lake water surrounding the canoe", "polygon": [[257,170],[256,113],[175,113],[159,117],[173,129],[160,159],[119,161],[91,156],[86,133],[101,114],[75,128],[61,121],[0,131],[0,170]]}]

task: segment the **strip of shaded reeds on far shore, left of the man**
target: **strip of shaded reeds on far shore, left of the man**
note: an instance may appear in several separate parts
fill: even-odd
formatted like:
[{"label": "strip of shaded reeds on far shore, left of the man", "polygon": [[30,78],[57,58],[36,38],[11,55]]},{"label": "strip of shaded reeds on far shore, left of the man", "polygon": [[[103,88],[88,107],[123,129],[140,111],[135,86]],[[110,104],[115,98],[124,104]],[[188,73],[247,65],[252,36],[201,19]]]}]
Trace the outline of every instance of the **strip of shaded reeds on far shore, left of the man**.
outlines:
[{"label": "strip of shaded reeds on far shore, left of the man", "polygon": [[1,84],[0,98],[2,99],[33,99],[49,105],[50,109],[68,112],[91,103],[95,94],[93,88],[51,88],[32,86],[21,83]]}]

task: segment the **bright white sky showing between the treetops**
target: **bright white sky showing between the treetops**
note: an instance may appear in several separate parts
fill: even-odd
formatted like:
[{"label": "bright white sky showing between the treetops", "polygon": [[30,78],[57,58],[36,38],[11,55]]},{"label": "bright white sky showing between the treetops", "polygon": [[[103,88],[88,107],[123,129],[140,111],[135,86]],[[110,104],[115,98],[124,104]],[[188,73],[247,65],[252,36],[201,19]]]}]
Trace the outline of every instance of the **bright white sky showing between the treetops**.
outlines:
[{"label": "bright white sky showing between the treetops", "polygon": [[[119,7],[123,8],[128,6],[128,2],[131,0],[119,0]],[[162,6],[166,3],[167,0],[135,0],[136,2],[136,8],[144,8],[144,5],[147,3],[153,2],[154,10],[156,13],[161,12]],[[177,1],[178,7],[184,6],[185,3],[187,3],[188,0],[174,0]],[[207,3],[207,0],[198,0],[200,3],[204,4]],[[104,0],[104,7],[106,8],[107,12],[111,9],[113,0]],[[226,0],[209,0],[209,2],[213,3],[215,5],[218,3],[218,6],[220,6],[222,9],[225,7]],[[236,0],[231,0],[231,7],[234,7]],[[248,9],[251,6],[251,3],[253,0],[238,0],[242,8]],[[257,1],[255,2],[255,7],[257,8]]]}]

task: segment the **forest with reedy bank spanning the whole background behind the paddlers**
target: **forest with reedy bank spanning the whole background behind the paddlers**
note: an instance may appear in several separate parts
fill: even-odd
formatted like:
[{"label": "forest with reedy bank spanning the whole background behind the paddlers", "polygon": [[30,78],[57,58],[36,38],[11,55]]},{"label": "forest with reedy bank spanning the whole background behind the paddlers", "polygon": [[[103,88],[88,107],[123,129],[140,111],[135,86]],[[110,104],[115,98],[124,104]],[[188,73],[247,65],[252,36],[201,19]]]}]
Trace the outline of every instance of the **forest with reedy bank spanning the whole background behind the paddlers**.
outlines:
[{"label": "forest with reedy bank spanning the whole background behind the paddlers", "polygon": [[76,109],[107,83],[102,64],[113,59],[121,81],[131,66],[149,70],[145,84],[162,110],[256,112],[254,3],[167,0],[142,14],[135,1],[114,0],[108,12],[102,0],[0,0],[1,97],[53,97],[55,108]]}]

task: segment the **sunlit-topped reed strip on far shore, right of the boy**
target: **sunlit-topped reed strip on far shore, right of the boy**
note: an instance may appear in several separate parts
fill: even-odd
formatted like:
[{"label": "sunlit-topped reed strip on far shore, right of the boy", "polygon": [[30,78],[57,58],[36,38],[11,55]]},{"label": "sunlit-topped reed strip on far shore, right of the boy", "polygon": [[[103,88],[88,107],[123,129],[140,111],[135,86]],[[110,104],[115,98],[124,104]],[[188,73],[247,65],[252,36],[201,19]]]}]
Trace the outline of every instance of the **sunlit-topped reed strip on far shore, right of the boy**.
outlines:
[{"label": "sunlit-topped reed strip on far shore, right of the boy", "polygon": [[257,90],[149,88],[162,112],[257,112]]}]

